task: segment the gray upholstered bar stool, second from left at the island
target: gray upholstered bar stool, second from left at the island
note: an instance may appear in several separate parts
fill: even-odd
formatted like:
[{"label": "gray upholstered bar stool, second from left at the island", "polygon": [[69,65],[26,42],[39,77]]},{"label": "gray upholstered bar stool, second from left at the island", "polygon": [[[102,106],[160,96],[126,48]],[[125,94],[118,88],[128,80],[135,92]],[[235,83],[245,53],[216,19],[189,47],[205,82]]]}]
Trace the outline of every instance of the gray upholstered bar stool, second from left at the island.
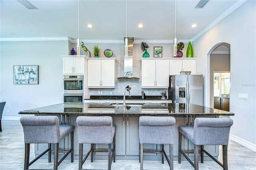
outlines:
[{"label": "gray upholstered bar stool, second from left at the island", "polygon": [[[108,170],[111,170],[111,164],[114,157],[116,162],[116,126],[113,125],[110,116],[79,116],[76,118],[78,127],[79,143],[79,170],[82,169],[86,158],[91,153],[91,162],[93,162],[93,152],[108,152]],[[113,142],[113,149],[111,144]],[[91,148],[83,159],[83,144],[90,143]],[[108,144],[108,149],[96,150],[95,144]],[[112,152],[112,154],[111,154]]]}]

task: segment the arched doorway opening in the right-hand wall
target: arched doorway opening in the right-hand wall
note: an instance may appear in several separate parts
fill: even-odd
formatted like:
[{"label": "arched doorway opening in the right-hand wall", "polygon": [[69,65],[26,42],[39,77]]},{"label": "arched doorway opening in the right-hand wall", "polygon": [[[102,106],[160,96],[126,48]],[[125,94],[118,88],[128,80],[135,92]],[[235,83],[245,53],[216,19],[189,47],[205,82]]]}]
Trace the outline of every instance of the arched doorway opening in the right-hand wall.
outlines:
[{"label": "arched doorway opening in the right-hand wall", "polygon": [[[227,78],[227,77],[221,77],[221,73],[230,73],[230,44],[221,42],[214,45],[210,49],[210,51],[207,54],[207,69],[208,69],[207,84],[209,87],[209,90],[207,91],[207,103],[208,103],[208,106],[213,108],[214,107],[214,87],[216,87],[217,85],[216,80],[214,80],[214,72],[220,73],[220,80],[218,80],[218,87],[222,87],[224,83],[222,83],[222,85],[220,85],[220,83],[224,82],[224,78]],[[215,79],[216,78],[217,77],[215,77]],[[222,95],[222,92],[221,92],[221,89],[219,89],[220,97]],[[216,95],[216,92],[215,92],[215,95]]]}]

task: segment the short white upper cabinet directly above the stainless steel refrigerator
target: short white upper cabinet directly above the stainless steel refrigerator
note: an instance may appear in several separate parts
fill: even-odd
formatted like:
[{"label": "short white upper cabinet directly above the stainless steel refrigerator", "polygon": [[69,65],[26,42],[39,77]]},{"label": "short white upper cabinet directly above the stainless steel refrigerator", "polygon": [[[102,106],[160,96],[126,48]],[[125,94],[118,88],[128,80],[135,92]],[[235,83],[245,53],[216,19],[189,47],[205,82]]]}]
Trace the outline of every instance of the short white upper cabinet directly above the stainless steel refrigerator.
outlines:
[{"label": "short white upper cabinet directly above the stainless steel refrigerator", "polygon": [[180,75],[180,71],[191,71],[191,74],[196,74],[196,59],[171,58],[169,75]]}]

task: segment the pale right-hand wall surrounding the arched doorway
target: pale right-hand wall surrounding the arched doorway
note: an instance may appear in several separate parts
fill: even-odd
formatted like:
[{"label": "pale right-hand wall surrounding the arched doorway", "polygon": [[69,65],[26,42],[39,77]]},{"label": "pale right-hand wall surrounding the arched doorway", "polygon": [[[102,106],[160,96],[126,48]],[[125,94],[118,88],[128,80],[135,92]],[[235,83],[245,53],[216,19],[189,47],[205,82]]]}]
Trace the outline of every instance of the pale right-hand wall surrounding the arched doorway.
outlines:
[{"label": "pale right-hand wall surrounding the arched doorway", "polygon": [[[247,1],[203,36],[193,42],[197,73],[204,75],[204,103],[209,97],[207,54],[216,44],[230,44],[230,111],[234,124],[231,134],[256,146],[256,1]],[[248,93],[248,99],[238,99]]]}]

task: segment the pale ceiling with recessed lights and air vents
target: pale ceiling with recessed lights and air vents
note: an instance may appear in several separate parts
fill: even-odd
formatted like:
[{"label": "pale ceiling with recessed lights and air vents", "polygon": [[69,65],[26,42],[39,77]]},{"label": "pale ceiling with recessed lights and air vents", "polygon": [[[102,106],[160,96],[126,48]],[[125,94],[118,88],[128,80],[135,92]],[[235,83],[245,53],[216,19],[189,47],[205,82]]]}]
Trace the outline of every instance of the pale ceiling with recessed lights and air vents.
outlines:
[{"label": "pale ceiling with recessed lights and air vents", "polygon": [[[191,40],[239,0],[176,1],[176,38]],[[16,0],[0,0],[0,37],[78,38],[78,0],[29,0],[38,10],[28,10]],[[80,0],[81,40],[123,40],[126,36],[126,0]],[[94,28],[87,28],[87,24]],[[138,24],[144,24],[138,28]],[[191,28],[192,24],[198,24]],[[134,40],[174,39],[174,0],[128,0],[127,37]]]}]

